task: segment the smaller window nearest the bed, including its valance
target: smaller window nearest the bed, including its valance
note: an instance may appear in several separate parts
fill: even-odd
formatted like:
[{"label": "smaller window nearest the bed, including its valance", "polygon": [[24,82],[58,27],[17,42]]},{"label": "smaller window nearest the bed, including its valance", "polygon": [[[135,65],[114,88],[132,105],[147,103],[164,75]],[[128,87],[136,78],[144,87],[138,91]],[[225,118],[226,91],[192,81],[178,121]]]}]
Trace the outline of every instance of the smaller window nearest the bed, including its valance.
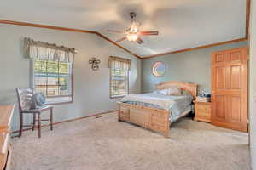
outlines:
[{"label": "smaller window nearest the bed, including its valance", "polygon": [[122,97],[129,94],[130,59],[117,57],[109,58],[110,67],[110,98]]}]

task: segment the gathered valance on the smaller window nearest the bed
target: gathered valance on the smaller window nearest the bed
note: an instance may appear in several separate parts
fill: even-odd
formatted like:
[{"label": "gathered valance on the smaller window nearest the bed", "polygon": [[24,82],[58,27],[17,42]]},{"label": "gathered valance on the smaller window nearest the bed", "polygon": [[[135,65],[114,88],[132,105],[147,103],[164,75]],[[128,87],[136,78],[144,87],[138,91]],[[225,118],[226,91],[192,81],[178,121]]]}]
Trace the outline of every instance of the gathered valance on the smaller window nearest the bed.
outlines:
[{"label": "gathered valance on the smaller window nearest the bed", "polygon": [[122,70],[130,70],[131,69],[131,59],[124,59],[124,58],[110,56],[108,59],[108,67],[109,68],[119,68]]}]

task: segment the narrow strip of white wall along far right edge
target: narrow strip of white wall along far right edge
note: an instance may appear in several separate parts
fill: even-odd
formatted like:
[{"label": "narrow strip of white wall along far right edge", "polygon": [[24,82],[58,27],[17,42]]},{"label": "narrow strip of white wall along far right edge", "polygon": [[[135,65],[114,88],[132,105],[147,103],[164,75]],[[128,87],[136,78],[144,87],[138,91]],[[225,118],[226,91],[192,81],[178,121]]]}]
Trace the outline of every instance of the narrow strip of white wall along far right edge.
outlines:
[{"label": "narrow strip of white wall along far right edge", "polygon": [[252,167],[256,170],[256,2],[251,0],[250,21],[250,147]]}]

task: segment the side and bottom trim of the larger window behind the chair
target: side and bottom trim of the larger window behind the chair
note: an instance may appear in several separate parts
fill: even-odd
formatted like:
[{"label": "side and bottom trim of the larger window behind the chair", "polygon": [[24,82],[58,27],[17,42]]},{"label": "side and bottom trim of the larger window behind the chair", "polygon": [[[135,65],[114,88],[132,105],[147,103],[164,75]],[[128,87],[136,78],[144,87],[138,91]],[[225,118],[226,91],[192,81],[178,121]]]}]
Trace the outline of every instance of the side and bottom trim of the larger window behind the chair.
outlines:
[{"label": "side and bottom trim of the larger window behind the chair", "polygon": [[[32,68],[32,74],[31,74],[31,87],[32,89],[35,89],[35,74],[34,74],[34,62],[35,59],[31,59],[31,68]],[[55,102],[46,102],[46,105],[64,105],[64,104],[72,104],[73,103],[73,96],[74,96],[74,78],[73,78],[73,71],[74,71],[74,61],[71,62],[71,95],[61,95],[61,96],[45,96],[47,98],[61,98],[61,97],[71,97],[71,100],[69,101],[55,101]]]}]

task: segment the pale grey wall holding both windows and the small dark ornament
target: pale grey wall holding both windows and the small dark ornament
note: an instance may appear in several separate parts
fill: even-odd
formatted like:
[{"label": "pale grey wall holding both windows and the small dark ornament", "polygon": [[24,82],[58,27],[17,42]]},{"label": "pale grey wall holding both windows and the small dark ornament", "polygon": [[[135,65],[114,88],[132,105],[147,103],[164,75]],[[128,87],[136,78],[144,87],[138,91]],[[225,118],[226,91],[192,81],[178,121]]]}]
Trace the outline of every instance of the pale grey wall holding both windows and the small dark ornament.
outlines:
[{"label": "pale grey wall holding both windows and the small dark ornament", "polygon": [[[29,59],[23,57],[24,37],[76,48],[79,52],[74,61],[74,102],[69,105],[55,105],[55,122],[117,109],[117,99],[109,98],[110,55],[132,59],[130,93],[137,94],[141,91],[140,59],[101,37],[94,34],[0,24],[0,105],[16,103],[15,88],[29,87],[31,68]],[[90,69],[88,60],[91,57],[101,59],[99,71]],[[30,120],[31,117],[26,116],[26,122]],[[16,130],[18,125],[16,105],[13,130]]]}]

